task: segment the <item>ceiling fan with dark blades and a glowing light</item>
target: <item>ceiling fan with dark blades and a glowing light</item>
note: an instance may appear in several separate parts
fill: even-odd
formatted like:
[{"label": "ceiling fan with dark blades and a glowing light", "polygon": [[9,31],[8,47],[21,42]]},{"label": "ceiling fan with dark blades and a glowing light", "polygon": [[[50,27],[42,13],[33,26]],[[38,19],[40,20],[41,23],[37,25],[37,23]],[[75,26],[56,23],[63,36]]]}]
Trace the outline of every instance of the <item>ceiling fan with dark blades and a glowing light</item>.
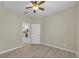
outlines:
[{"label": "ceiling fan with dark blades and a glowing light", "polygon": [[36,10],[40,9],[42,11],[44,11],[44,8],[40,7],[40,5],[42,5],[45,1],[30,1],[32,3],[32,6],[29,7],[25,7],[25,9],[33,9],[33,12],[36,13]]}]

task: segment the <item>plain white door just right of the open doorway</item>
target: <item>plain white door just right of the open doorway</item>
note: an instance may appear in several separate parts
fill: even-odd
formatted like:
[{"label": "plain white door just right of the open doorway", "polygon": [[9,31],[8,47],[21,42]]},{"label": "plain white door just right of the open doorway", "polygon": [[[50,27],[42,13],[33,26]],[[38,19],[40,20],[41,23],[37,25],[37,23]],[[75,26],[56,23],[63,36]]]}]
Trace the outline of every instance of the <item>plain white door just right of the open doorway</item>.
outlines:
[{"label": "plain white door just right of the open doorway", "polygon": [[40,43],[40,24],[31,25],[31,44]]}]

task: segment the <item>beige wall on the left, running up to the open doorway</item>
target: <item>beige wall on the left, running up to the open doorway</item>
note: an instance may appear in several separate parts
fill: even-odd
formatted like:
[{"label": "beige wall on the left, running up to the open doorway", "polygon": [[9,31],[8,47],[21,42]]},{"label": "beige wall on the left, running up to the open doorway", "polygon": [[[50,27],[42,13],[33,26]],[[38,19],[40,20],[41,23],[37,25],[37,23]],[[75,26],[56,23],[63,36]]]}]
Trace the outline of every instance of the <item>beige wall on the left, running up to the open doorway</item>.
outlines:
[{"label": "beige wall on the left, running up to the open doorway", "polygon": [[22,45],[21,26],[28,17],[0,5],[0,52]]}]

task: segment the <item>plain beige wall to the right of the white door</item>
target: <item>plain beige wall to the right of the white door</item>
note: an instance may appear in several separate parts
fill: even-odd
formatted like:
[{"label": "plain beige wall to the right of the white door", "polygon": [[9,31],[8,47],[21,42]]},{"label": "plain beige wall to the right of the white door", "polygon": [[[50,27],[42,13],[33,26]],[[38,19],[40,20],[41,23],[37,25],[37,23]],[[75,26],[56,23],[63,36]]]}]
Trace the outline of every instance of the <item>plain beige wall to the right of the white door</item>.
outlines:
[{"label": "plain beige wall to the right of the white door", "polygon": [[42,43],[76,51],[76,8],[43,18]]}]

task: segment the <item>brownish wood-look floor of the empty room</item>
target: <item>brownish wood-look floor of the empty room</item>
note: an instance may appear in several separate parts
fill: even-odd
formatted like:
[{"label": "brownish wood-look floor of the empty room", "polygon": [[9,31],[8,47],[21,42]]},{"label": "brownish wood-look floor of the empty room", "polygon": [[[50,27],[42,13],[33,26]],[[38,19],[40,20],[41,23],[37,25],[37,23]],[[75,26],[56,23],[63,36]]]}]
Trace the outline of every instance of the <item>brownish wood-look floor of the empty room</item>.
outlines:
[{"label": "brownish wood-look floor of the empty room", "polygon": [[25,45],[0,55],[1,58],[76,58],[76,54],[42,44]]}]

